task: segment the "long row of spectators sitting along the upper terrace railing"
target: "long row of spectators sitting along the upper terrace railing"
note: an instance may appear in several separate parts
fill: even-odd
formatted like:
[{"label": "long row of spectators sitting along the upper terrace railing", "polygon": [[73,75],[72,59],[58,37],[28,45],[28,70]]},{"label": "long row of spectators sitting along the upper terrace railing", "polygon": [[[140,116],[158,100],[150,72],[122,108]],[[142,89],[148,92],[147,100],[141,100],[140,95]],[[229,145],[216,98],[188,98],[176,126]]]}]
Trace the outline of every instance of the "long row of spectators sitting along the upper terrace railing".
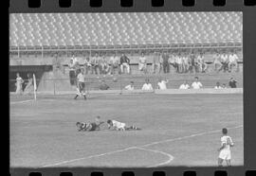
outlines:
[{"label": "long row of spectators sitting along the upper terrace railing", "polygon": [[[172,51],[172,52],[154,52],[151,55],[141,52],[138,57],[137,69],[143,74],[157,74],[157,73],[170,73],[173,69],[176,73],[205,73],[209,71],[210,64],[213,64],[216,72],[224,71],[231,72],[232,68],[236,71],[238,67],[238,55],[236,50],[214,50],[208,55],[203,51]],[[76,71],[82,67],[84,73],[95,75],[115,75],[115,74],[130,74],[131,62],[130,59],[122,53],[117,55],[114,53],[107,56],[102,53],[95,53],[92,56],[83,53],[83,56],[72,56],[68,67],[71,72]]]}]

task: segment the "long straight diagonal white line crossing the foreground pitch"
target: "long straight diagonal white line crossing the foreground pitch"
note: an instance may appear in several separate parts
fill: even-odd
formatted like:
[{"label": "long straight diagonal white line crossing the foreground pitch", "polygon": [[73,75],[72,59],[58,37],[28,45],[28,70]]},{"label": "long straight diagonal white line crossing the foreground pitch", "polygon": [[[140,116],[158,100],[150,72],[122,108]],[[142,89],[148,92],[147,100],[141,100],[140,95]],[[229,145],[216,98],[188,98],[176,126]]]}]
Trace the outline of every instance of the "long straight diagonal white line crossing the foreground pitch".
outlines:
[{"label": "long straight diagonal white line crossing the foreground pitch", "polygon": [[[229,130],[231,130],[231,129],[239,129],[239,128],[242,128],[242,127],[243,127],[243,125],[240,125],[240,126],[231,127],[231,128],[228,128],[228,129],[229,129]],[[82,157],[82,158],[77,158],[77,159],[72,159],[72,160],[65,160],[65,161],[63,161],[63,162],[58,162],[58,163],[55,163],[55,164],[45,165],[45,166],[43,166],[43,167],[55,167],[55,166],[60,166],[60,165],[66,164],[66,163],[72,163],[72,162],[81,161],[81,160],[86,160],[86,159],[90,159],[90,158],[101,157],[101,156],[105,156],[105,155],[109,155],[109,154],[113,154],[113,153],[117,153],[117,152],[122,152],[122,151],[125,151],[125,150],[134,150],[134,149],[137,149],[137,148],[145,148],[145,147],[149,147],[149,146],[154,146],[154,145],[156,145],[156,144],[174,142],[174,141],[183,140],[183,139],[188,139],[188,138],[192,138],[192,137],[196,137],[196,136],[200,136],[200,135],[205,135],[205,134],[209,134],[209,133],[214,133],[214,132],[220,132],[220,130],[210,131],[210,132],[200,132],[200,133],[195,133],[195,134],[187,135],[187,136],[183,136],[183,137],[177,137],[177,138],[173,138],[173,139],[167,139],[167,140],[157,141],[157,142],[145,144],[145,145],[142,145],[142,146],[133,146],[133,147],[125,148],[125,149],[122,149],[122,150],[114,150],[114,151],[104,152],[104,153],[96,154],[96,155],[90,155],[90,156],[86,156],[86,157]],[[153,151],[153,150],[152,150],[152,151]],[[156,150],[155,150],[154,152],[156,152]],[[159,152],[159,151],[158,151],[158,152]],[[162,151],[161,151],[161,152],[162,152]],[[162,154],[163,154],[163,153],[162,153]],[[169,154],[169,153],[165,153],[165,154]],[[160,165],[163,165],[163,164],[160,164]],[[159,166],[159,164],[158,164],[158,166]]]}]

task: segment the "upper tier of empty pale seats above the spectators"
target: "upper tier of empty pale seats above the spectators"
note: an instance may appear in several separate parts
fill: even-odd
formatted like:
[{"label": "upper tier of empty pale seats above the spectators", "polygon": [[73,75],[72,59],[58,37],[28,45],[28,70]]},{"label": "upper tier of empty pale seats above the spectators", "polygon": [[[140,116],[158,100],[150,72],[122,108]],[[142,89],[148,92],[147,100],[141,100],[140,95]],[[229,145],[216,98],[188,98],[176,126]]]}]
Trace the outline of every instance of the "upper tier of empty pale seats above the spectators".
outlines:
[{"label": "upper tier of empty pale seats above the spectators", "polygon": [[242,44],[242,13],[16,13],[11,49],[66,46]]}]

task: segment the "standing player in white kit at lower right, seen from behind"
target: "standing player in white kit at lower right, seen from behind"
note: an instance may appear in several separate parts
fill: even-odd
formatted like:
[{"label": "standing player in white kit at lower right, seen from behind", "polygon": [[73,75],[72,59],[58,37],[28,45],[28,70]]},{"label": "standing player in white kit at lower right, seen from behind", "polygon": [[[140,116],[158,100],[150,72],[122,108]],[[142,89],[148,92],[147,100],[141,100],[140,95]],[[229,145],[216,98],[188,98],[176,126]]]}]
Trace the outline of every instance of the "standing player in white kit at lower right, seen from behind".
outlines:
[{"label": "standing player in white kit at lower right, seen from behind", "polygon": [[221,148],[218,149],[220,152],[218,158],[218,166],[222,167],[222,163],[225,160],[227,166],[231,166],[231,151],[230,147],[234,146],[231,137],[228,135],[228,130],[226,128],[222,129],[223,136],[221,137]]}]

